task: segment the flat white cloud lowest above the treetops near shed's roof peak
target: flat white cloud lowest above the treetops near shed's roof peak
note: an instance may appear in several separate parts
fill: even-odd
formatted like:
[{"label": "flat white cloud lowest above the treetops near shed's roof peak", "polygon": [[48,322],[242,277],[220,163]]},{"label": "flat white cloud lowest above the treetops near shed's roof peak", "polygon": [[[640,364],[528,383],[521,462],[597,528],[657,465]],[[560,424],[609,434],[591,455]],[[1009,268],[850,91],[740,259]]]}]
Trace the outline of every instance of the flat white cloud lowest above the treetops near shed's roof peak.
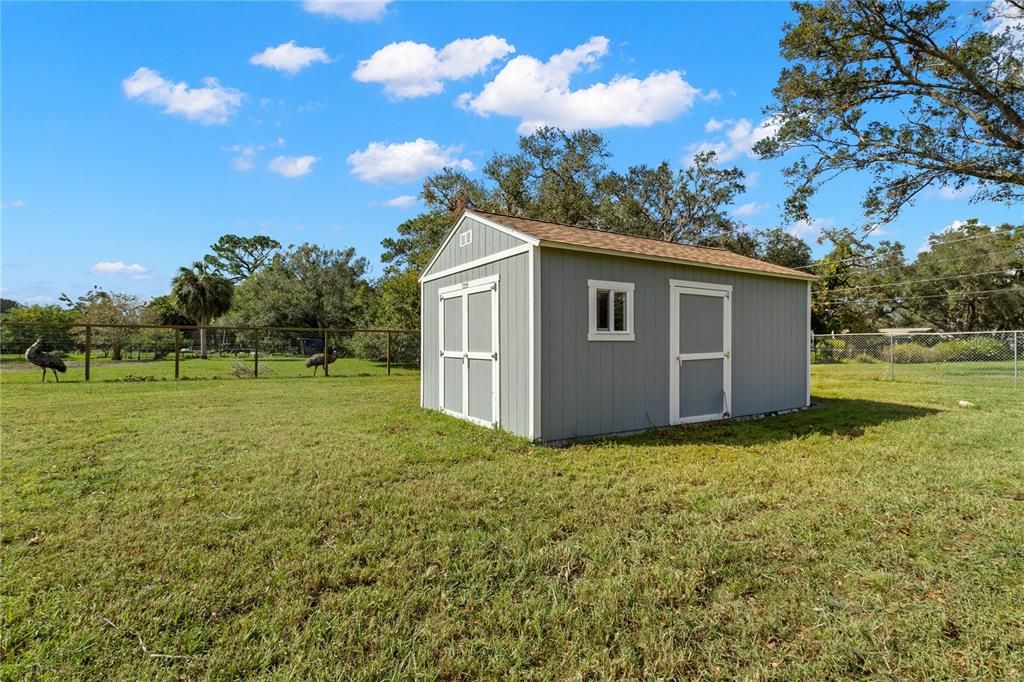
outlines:
[{"label": "flat white cloud lowest above the treetops near shed's roof peak", "polygon": [[441,146],[418,137],[411,142],[370,142],[366,150],[348,155],[352,174],[366,182],[410,182],[445,167],[473,170],[473,162],[460,159],[461,146]]}]

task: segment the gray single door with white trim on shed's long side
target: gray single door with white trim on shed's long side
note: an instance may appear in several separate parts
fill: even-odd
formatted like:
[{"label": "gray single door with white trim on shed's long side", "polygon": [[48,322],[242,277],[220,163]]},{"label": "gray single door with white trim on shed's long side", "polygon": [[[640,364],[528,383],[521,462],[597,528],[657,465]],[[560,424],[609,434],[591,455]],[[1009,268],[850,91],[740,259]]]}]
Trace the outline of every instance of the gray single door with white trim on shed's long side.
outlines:
[{"label": "gray single door with white trim on shed's long side", "polygon": [[732,287],[670,283],[670,417],[673,424],[732,411]]}]

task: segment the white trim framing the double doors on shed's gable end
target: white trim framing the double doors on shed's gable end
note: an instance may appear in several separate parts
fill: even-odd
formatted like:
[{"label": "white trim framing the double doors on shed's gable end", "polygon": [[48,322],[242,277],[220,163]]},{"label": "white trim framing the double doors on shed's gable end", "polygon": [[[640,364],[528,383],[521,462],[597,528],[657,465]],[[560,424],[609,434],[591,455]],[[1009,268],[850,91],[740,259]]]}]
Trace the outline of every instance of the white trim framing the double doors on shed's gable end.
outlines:
[{"label": "white trim framing the double doors on shed's gable end", "polygon": [[[453,417],[458,417],[459,419],[465,419],[466,421],[473,422],[474,424],[479,424],[480,426],[486,426],[488,428],[497,428],[501,422],[501,412],[499,395],[501,394],[499,380],[501,377],[499,363],[501,361],[498,352],[499,349],[499,338],[498,338],[498,282],[499,276],[493,274],[487,278],[480,278],[479,280],[473,280],[472,282],[465,282],[462,284],[452,285],[451,287],[443,287],[438,291],[438,301],[437,301],[437,348],[438,353],[438,367],[437,367],[437,404],[440,407],[441,412],[446,415],[452,415]],[[471,294],[480,294],[483,292],[490,292],[490,351],[473,351],[469,350],[469,296]],[[444,302],[452,299],[461,299],[462,307],[462,343],[460,350],[444,350]],[[461,358],[462,359],[462,410],[463,412],[456,412],[454,410],[449,410],[444,407],[444,359],[445,358]],[[490,400],[490,417],[492,421],[487,422],[476,417],[472,417],[469,414],[469,360],[490,360],[492,365],[492,400]]]}]

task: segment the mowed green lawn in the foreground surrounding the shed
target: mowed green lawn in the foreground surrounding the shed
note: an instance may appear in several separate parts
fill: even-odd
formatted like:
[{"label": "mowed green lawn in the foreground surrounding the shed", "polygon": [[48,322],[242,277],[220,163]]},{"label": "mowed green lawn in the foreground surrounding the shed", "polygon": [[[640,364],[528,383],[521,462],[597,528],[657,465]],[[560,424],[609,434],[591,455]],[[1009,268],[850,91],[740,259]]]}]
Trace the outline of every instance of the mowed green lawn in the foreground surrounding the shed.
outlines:
[{"label": "mowed green lawn in the foreground surrounding the shed", "polygon": [[552,450],[415,376],[8,378],[7,679],[1024,676],[1024,391]]}]

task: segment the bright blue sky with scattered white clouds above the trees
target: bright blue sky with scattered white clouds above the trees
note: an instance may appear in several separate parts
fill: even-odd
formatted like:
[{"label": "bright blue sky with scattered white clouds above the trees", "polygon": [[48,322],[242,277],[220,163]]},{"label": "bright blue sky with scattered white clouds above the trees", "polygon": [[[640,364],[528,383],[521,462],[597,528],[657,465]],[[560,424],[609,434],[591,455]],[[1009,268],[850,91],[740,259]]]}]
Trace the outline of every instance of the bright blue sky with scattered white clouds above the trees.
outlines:
[{"label": "bright blue sky with scattered white clouds above the trees", "polygon": [[[783,3],[0,12],[6,298],[166,293],[225,232],[354,246],[379,273],[380,241],[420,210],[409,197],[424,174],[478,173],[538,123],[599,127],[622,168],[712,145],[754,178],[743,219],[778,224],[784,164],[748,150],[782,67]],[[822,224],[856,222],[865,182],[830,185],[813,224],[793,229],[813,241]],[[1024,222],[1020,207],[968,199],[931,191],[885,238],[912,254],[954,220]]]}]

